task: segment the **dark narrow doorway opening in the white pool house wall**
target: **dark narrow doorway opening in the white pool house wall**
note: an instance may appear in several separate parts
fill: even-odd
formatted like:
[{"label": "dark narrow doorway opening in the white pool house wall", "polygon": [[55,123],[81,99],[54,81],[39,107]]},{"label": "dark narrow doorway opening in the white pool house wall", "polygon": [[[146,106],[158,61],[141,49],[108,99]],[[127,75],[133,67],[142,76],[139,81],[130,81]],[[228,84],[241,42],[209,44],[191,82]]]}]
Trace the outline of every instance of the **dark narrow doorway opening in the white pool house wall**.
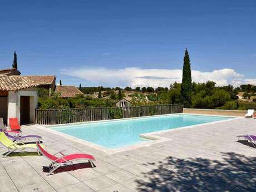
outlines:
[{"label": "dark narrow doorway opening in the white pool house wall", "polygon": [[21,96],[21,125],[29,124],[30,122],[29,108],[29,96]]}]

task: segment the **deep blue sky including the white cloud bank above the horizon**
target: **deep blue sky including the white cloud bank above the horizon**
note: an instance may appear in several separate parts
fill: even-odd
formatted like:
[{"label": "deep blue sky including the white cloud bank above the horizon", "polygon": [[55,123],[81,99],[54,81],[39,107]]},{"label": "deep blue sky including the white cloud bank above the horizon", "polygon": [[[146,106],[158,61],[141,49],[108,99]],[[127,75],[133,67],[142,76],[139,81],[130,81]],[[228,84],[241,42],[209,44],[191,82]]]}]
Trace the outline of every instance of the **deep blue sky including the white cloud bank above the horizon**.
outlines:
[{"label": "deep blue sky including the white cloud bank above the horizon", "polygon": [[256,1],[2,1],[0,68],[62,85],[256,85]]}]

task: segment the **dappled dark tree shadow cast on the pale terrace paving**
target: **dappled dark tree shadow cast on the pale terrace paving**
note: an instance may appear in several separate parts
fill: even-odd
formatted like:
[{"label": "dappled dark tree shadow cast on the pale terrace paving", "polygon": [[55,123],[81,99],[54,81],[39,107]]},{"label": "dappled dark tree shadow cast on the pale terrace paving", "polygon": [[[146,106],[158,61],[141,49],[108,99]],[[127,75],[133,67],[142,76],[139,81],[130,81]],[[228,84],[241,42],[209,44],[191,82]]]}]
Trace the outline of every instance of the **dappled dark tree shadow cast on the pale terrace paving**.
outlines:
[{"label": "dappled dark tree shadow cast on the pale terrace paving", "polygon": [[161,192],[256,191],[256,157],[234,152],[222,153],[222,157],[222,160],[167,157],[158,162],[157,169],[145,173],[144,179],[136,180],[138,189]]}]

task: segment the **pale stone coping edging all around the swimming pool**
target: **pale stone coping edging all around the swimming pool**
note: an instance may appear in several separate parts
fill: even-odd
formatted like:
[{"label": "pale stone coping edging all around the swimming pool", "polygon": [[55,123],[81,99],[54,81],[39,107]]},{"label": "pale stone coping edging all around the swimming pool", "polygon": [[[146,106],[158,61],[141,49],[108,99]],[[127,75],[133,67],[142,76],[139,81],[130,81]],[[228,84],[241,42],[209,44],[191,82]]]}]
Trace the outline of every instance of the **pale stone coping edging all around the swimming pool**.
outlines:
[{"label": "pale stone coping edging all around the swimming pool", "polygon": [[[142,137],[144,139],[152,140],[152,141],[143,142],[143,143],[135,144],[135,145],[131,145],[131,146],[125,146],[125,147],[121,147],[121,148],[117,148],[117,149],[109,149],[107,147],[94,144],[93,142],[82,140],[82,139],[79,139],[79,138],[77,138],[75,136],[64,134],[64,133],[62,133],[60,131],[56,131],[56,130],[53,130],[53,129],[49,129],[50,127],[55,127],[55,126],[59,127],[59,126],[68,126],[68,125],[90,124],[90,123],[96,123],[96,122],[124,121],[124,120],[129,120],[129,119],[142,119],[142,118],[144,119],[144,118],[157,117],[157,116],[172,116],[172,115],[180,115],[180,114],[183,114],[183,115],[196,115],[196,116],[211,116],[211,117],[213,117],[213,116],[215,116],[215,117],[230,117],[230,118],[233,118],[233,119],[220,120],[220,121],[214,121],[214,122],[207,122],[207,123],[204,123],[204,124],[189,125],[189,126],[185,126],[185,127],[178,127],[178,128],[171,129],[171,130],[161,130],[161,131],[149,132],[149,133],[146,133],[146,134],[140,134],[139,135],[140,137]],[[161,133],[170,132],[170,131],[178,131],[178,130],[181,130],[181,129],[190,129],[190,128],[196,127],[196,126],[216,124],[216,123],[219,123],[219,122],[232,121],[232,120],[242,119],[242,118],[244,118],[244,117],[179,113],[179,114],[153,115],[153,116],[144,116],[144,117],[131,117],[131,118],[117,119],[117,120],[101,120],[101,121],[79,122],[79,123],[72,123],[72,124],[60,124],[60,125],[50,125],[50,126],[48,126],[48,125],[47,126],[38,125],[38,128],[46,130],[46,131],[51,132],[53,134],[61,135],[61,136],[65,137],[66,139],[70,139],[72,141],[75,141],[75,142],[78,142],[80,144],[92,147],[93,149],[96,149],[96,150],[99,150],[99,151],[102,151],[102,152],[106,152],[107,154],[111,155],[111,154],[115,154],[116,152],[122,152],[122,151],[137,149],[139,147],[151,146],[152,144],[157,144],[157,143],[160,143],[160,142],[173,140],[171,138],[159,136],[159,135],[156,135],[156,134],[161,134]]]}]

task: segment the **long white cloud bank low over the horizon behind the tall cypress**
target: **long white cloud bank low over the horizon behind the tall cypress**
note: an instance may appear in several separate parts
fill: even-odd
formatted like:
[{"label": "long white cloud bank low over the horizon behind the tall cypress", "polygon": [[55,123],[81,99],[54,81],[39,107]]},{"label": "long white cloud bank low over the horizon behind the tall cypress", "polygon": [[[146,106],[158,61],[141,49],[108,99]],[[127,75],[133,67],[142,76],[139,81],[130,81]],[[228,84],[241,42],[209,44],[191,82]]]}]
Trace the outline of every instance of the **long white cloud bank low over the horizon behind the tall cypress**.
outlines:
[{"label": "long white cloud bank low over the horizon behind the tall cypress", "polygon": [[[170,83],[181,82],[182,70],[146,69],[146,68],[69,68],[61,70],[63,75],[87,80],[93,85],[105,86],[152,86],[169,87]],[[245,79],[244,75],[235,72],[231,68],[223,68],[211,72],[192,71],[192,80],[195,82],[214,81],[217,86],[228,84],[237,85],[244,82],[255,82],[256,79]]]}]

